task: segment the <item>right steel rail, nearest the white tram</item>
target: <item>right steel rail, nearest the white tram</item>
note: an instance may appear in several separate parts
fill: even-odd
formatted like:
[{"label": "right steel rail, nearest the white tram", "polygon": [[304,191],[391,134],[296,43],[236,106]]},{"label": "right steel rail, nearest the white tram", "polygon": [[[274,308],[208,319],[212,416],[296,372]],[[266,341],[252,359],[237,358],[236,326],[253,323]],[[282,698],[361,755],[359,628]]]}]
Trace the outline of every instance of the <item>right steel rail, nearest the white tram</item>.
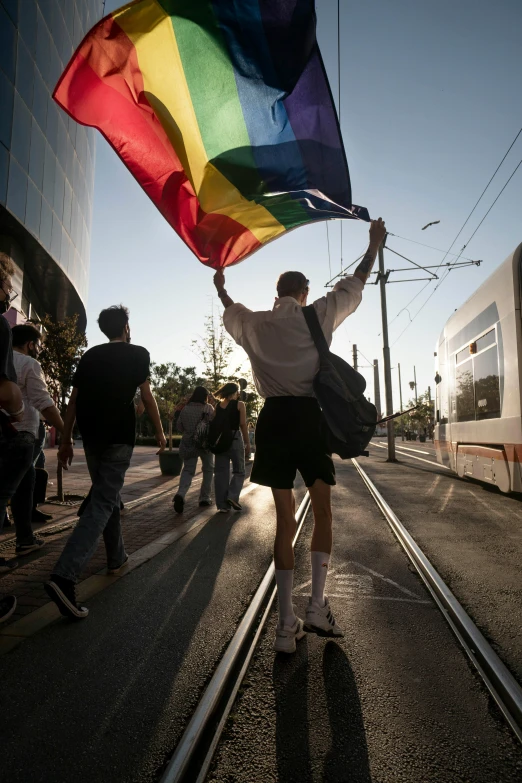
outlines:
[{"label": "right steel rail, nearest the white tram", "polygon": [[522,688],[442,580],[418,544],[408,533],[395,512],[392,511],[384,500],[357,460],[352,459],[352,463],[366,484],[377,506],[382,511],[392,532],[415,566],[433,600],[442,612],[444,619],[482,677],[515,735],[522,742]]}]

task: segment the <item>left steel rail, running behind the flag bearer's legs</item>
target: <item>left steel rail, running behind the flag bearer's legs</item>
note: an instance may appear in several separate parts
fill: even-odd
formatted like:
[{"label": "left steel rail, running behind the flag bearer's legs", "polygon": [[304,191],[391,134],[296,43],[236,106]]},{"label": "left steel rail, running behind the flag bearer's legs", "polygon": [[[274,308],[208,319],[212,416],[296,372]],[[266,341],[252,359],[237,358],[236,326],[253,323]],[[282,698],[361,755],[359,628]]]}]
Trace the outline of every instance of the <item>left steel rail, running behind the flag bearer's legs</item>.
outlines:
[{"label": "left steel rail, running behind the flag bearer's legs", "polygon": [[[299,538],[309,507],[310,507],[310,495],[307,492],[296,514],[297,531],[293,540],[293,546],[295,546],[295,543]],[[203,736],[203,733],[207,728],[207,726],[209,725],[209,722],[212,719],[213,715],[215,714],[216,708],[218,707],[218,704],[224,695],[225,688],[229,683],[229,681],[231,680],[232,674],[234,672],[234,668],[238,663],[239,656],[244,647],[245,641],[247,640],[247,637],[249,636],[249,634],[251,633],[254,627],[256,617],[259,615],[259,612],[261,610],[263,602],[266,599],[267,593],[270,590],[270,586],[272,585],[274,577],[275,577],[275,567],[274,567],[274,562],[272,561],[266,574],[264,575],[261,581],[261,584],[257,588],[257,591],[250,603],[250,606],[248,607],[245,614],[243,615],[243,618],[239,623],[239,626],[234,636],[232,637],[225,651],[225,654],[223,655],[221,661],[219,662],[216,671],[212,675],[212,678],[209,684],[207,685],[205,692],[203,693],[203,696],[201,697],[199,704],[196,707],[192,715],[192,718],[190,719],[189,724],[183,733],[183,736],[181,737],[178,745],[176,746],[174,754],[170,759],[168,766],[161,778],[161,783],[180,783],[180,781],[183,780],[183,776],[185,775],[188,766],[192,761],[192,759],[194,758],[195,753],[198,749],[198,745]],[[259,639],[259,635],[262,631],[263,625],[268,618],[270,612],[270,606],[274,600],[274,597],[275,597],[275,590],[272,592],[270,604],[265,609],[263,618],[257,628],[256,635],[248,651],[247,658],[244,661],[241,671],[239,672],[239,675],[235,682],[234,690],[228,700],[227,706],[225,708],[228,709],[228,711],[230,711],[230,708],[233,705],[233,699],[235,699],[235,695],[237,694],[237,690],[239,689],[239,685],[240,685],[239,678],[241,678],[242,680],[246,674],[248,663],[250,662],[250,659],[254,652],[254,648],[255,645],[257,644],[257,640]],[[206,766],[206,769],[208,769],[214,751],[217,747],[219,736],[216,738],[216,735],[218,732],[219,734],[221,734],[224,725],[225,725],[225,720],[221,719],[217,727],[217,731],[214,735],[214,740],[212,741],[210,749],[206,754],[205,760],[203,762],[203,764]],[[198,781],[199,780],[200,777],[198,777]]]}]

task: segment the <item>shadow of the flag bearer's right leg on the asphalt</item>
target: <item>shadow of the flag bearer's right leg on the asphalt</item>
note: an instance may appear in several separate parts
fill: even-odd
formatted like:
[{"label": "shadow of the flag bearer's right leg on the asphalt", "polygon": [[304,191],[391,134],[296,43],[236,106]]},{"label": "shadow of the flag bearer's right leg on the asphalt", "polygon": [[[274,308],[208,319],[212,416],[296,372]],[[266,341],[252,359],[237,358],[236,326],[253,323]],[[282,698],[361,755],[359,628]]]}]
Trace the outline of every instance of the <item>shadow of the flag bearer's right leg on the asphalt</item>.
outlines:
[{"label": "shadow of the flag bearer's right leg on the asphalt", "polygon": [[332,744],[324,759],[322,780],[371,783],[357,684],[346,653],[333,641],[324,648],[323,678]]}]

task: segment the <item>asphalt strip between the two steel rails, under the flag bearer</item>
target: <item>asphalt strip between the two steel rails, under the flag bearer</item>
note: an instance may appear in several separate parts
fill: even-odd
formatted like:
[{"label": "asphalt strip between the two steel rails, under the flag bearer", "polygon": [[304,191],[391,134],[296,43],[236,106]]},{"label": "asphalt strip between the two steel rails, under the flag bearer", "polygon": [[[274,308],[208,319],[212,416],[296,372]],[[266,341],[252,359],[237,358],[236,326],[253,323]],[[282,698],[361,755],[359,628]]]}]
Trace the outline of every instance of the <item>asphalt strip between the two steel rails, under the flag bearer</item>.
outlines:
[{"label": "asphalt strip between the two steel rails, under the flag bearer", "polygon": [[[272,615],[208,780],[520,781],[522,749],[350,463],[338,479],[327,590],[345,638],[309,634],[274,656]],[[296,547],[301,613],[310,528]]]}]

